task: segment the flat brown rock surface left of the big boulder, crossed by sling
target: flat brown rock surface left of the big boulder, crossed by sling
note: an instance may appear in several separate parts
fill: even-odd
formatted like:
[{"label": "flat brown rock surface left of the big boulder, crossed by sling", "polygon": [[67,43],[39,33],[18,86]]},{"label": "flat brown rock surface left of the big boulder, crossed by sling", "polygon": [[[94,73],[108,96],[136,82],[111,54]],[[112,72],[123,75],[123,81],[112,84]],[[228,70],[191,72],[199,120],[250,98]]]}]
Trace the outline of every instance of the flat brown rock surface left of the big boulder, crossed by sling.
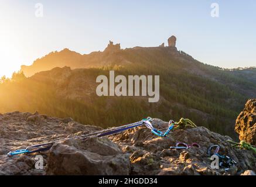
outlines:
[{"label": "flat brown rock surface left of the big boulder, crossed by sling", "polygon": [[[38,112],[10,112],[0,115],[0,175],[45,175],[46,169],[36,169],[36,155],[8,157],[9,151],[22,149],[37,143],[46,143],[71,136],[90,133],[100,127],[41,115]],[[47,153],[40,153],[47,165]]]}]

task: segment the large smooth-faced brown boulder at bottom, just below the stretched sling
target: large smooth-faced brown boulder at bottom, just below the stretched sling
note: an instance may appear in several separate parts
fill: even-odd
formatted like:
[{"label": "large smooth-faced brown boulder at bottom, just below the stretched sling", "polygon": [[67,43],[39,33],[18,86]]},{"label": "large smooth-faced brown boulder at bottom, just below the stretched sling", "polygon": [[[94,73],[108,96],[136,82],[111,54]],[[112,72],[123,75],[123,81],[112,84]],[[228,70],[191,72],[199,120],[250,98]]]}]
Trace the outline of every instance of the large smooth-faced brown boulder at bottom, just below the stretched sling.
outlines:
[{"label": "large smooth-faced brown boulder at bottom, just below the stretched sling", "polygon": [[48,175],[128,175],[129,157],[108,138],[68,140],[49,151]]}]

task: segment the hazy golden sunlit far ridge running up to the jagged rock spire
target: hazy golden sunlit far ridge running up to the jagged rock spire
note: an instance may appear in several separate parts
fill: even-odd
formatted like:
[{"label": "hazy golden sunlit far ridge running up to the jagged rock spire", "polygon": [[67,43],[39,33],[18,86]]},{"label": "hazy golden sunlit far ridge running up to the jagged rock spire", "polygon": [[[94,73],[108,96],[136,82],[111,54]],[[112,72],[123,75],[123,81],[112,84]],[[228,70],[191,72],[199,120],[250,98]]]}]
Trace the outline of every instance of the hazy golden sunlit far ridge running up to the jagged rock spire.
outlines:
[{"label": "hazy golden sunlit far ridge running up to the jagged rock spire", "polygon": [[[63,49],[62,51],[54,51],[45,57],[35,60],[32,65],[22,65],[21,70],[27,77],[30,77],[36,74],[36,72],[52,70],[54,67],[67,66],[76,69],[122,63],[122,58],[113,54],[118,51],[121,51],[120,44],[114,45],[112,41],[110,41],[110,44],[108,44],[108,47],[103,52],[98,51],[81,55],[69,49]],[[113,59],[115,61],[112,61]]]}]

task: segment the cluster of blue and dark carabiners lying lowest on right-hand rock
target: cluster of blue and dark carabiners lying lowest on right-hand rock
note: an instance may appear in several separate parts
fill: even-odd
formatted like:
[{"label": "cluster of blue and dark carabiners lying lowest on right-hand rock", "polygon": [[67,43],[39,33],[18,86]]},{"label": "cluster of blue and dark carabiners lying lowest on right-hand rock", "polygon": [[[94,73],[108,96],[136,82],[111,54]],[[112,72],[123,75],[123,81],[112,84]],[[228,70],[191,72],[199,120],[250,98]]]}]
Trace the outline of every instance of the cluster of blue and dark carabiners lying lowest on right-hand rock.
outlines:
[{"label": "cluster of blue and dark carabiners lying lowest on right-hand rock", "polygon": [[[216,149],[214,150],[214,153],[211,154],[211,150],[214,147],[216,147]],[[218,146],[218,145],[211,146],[208,149],[208,154],[209,154],[209,157],[211,157],[212,155],[217,155],[219,157],[219,167],[220,168],[224,168],[225,170],[228,170],[234,164],[237,164],[237,161],[233,160],[228,155],[219,154],[219,150],[220,150],[220,146]]]}]

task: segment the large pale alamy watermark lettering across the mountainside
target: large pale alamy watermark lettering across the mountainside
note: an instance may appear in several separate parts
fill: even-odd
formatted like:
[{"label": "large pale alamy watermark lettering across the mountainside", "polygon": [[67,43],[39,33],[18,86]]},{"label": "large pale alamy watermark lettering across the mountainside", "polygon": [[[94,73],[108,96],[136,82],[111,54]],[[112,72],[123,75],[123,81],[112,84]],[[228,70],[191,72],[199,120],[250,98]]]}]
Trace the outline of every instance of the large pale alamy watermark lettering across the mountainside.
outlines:
[{"label": "large pale alamy watermark lettering across the mountainside", "polygon": [[[148,102],[159,101],[159,75],[117,75],[115,72],[110,71],[110,80],[105,75],[99,75],[96,82],[100,83],[96,88],[98,96],[149,96]],[[115,83],[118,83],[115,86]],[[154,86],[154,89],[153,89]],[[109,88],[109,89],[108,89]],[[128,89],[127,89],[128,88]],[[141,94],[140,94],[141,91]]]}]

